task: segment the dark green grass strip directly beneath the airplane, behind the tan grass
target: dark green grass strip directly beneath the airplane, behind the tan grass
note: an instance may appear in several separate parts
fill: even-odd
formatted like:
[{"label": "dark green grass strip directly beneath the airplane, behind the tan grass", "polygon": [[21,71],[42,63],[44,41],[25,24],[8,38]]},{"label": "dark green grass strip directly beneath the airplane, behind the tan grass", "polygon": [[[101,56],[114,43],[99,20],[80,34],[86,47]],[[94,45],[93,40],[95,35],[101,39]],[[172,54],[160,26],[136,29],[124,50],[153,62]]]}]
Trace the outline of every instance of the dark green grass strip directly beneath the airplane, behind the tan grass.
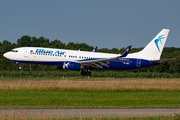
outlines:
[{"label": "dark green grass strip directly beneath the airplane, behind the tan grass", "polygon": [[[91,71],[92,78],[180,78],[180,74],[171,73],[153,73],[153,72],[132,72],[132,71]],[[0,79],[3,78],[63,78],[63,77],[79,77],[81,79],[86,79],[87,76],[82,77],[80,71],[0,71]]]}]

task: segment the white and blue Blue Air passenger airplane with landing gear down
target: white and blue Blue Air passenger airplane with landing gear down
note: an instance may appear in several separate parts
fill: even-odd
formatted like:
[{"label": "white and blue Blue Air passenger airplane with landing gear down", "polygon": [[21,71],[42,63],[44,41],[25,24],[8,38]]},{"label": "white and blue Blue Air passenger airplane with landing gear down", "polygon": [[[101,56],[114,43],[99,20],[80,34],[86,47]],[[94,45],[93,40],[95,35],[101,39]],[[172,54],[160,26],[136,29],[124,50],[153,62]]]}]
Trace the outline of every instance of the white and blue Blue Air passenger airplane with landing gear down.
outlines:
[{"label": "white and blue Blue Air passenger airplane with landing gear down", "polygon": [[44,47],[19,47],[6,52],[3,56],[16,64],[53,65],[56,69],[81,71],[82,76],[90,76],[90,70],[93,69],[135,70],[172,60],[160,59],[168,34],[169,29],[162,29],[143,50],[130,54],[128,53],[131,46],[122,55]]}]

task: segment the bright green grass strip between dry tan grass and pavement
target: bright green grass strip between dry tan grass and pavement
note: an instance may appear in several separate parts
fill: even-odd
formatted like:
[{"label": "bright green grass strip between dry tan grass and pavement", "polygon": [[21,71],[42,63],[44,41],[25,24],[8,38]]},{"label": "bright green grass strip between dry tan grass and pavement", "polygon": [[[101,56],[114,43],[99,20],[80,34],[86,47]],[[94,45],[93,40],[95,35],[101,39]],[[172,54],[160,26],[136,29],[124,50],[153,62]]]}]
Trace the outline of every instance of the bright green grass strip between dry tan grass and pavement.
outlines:
[{"label": "bright green grass strip between dry tan grass and pavement", "polygon": [[0,91],[0,108],[180,108],[180,91]]}]

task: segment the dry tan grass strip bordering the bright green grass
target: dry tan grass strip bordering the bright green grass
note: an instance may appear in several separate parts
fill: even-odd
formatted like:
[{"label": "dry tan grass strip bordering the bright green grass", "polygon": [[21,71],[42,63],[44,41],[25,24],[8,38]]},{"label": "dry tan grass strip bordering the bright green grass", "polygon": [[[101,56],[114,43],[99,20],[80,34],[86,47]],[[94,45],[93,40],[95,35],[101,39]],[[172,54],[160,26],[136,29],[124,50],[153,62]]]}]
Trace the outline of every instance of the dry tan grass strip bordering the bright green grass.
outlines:
[{"label": "dry tan grass strip bordering the bright green grass", "polygon": [[0,81],[1,91],[16,90],[158,90],[179,91],[180,80]]}]

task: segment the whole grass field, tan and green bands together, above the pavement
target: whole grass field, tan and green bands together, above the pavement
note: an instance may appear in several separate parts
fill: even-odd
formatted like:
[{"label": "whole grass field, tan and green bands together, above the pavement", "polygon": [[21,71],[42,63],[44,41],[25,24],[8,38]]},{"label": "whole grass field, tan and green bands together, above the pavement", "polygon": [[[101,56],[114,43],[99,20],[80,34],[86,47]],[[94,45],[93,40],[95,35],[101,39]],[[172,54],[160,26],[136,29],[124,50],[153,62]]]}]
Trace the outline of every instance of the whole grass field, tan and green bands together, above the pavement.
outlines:
[{"label": "whole grass field, tan and green bands together, above the pavement", "polygon": [[180,108],[180,81],[0,81],[0,108]]}]

